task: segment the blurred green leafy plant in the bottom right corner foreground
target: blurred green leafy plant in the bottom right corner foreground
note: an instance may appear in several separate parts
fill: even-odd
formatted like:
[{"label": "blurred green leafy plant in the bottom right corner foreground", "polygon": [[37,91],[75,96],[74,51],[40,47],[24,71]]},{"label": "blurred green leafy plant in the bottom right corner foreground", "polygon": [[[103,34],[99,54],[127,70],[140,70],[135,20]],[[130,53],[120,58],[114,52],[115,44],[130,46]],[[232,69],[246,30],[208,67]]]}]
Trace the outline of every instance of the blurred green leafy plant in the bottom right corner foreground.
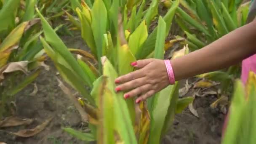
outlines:
[{"label": "blurred green leafy plant in the bottom right corner foreground", "polygon": [[222,144],[254,144],[256,131],[256,75],[249,73],[248,83],[243,86],[240,80],[235,83],[235,92],[229,111],[229,121]]}]

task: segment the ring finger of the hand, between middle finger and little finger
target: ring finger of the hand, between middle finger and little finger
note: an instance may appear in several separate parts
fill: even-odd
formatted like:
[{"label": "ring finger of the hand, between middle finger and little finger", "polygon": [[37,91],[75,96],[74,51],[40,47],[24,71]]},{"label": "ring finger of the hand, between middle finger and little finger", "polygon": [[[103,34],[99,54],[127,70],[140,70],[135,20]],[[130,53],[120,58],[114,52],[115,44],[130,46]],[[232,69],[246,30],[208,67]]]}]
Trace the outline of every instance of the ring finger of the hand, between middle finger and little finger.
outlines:
[{"label": "ring finger of the hand, between middle finger and little finger", "polygon": [[128,99],[128,98],[131,98],[131,97],[134,97],[134,96],[138,96],[139,94],[141,93],[146,93],[147,91],[150,90],[152,86],[147,84],[147,85],[142,85],[140,86],[139,88],[135,88],[133,89],[132,91],[129,91],[128,93],[125,93],[124,94],[124,98],[125,99]]}]

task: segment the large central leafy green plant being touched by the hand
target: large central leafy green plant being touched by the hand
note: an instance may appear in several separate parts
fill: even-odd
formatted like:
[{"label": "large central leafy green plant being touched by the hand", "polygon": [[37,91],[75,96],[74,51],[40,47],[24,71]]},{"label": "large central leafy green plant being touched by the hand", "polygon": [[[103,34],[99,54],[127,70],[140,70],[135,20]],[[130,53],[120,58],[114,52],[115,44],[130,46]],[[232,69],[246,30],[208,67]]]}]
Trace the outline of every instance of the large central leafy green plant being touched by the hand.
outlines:
[{"label": "large central leafy green plant being touched by the hand", "polygon": [[[165,37],[179,0],[174,2],[163,18],[159,17],[158,26],[151,34],[148,34],[148,29],[157,16],[157,0],[152,0],[146,11],[144,0],[132,6],[129,3],[129,7],[129,1],[125,0],[73,2],[81,35],[94,56],[90,59],[80,55],[75,59],[40,12],[37,12],[42,21],[44,37],[40,37],[40,40],[45,52],[53,60],[62,78],[83,96],[84,101],[80,99],[80,103],[88,114],[83,117],[87,118],[91,129],[91,133],[85,133],[90,138],[84,140],[91,140],[93,136],[98,143],[107,144],[160,143],[175,113],[181,112],[192,99],[178,99],[179,82],[176,82],[149,101],[135,104],[134,99],[125,101],[123,93],[115,93],[114,80],[134,70],[130,65],[132,61],[143,59],[152,52],[155,58],[163,59]],[[131,16],[127,15],[129,12]],[[69,17],[71,20],[72,15]],[[77,25],[78,21],[72,22]],[[176,52],[173,59],[186,53],[187,47]],[[98,69],[89,62],[91,60],[97,61]],[[67,89],[63,90],[71,95]],[[81,139],[82,133],[67,130]]]}]

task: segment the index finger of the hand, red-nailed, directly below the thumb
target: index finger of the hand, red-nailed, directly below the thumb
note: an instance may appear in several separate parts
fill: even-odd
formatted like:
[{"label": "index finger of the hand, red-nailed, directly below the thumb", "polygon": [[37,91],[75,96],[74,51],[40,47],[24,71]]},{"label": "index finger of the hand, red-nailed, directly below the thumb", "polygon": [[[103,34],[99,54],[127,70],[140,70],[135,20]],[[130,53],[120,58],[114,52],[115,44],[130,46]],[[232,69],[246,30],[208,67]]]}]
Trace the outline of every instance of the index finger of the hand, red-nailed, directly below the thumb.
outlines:
[{"label": "index finger of the hand, red-nailed, directly below the thumb", "polygon": [[131,80],[135,80],[135,79],[144,77],[144,75],[145,75],[145,71],[143,69],[139,69],[134,72],[130,72],[126,75],[117,77],[117,79],[115,79],[115,83],[118,84],[118,83],[129,82]]}]

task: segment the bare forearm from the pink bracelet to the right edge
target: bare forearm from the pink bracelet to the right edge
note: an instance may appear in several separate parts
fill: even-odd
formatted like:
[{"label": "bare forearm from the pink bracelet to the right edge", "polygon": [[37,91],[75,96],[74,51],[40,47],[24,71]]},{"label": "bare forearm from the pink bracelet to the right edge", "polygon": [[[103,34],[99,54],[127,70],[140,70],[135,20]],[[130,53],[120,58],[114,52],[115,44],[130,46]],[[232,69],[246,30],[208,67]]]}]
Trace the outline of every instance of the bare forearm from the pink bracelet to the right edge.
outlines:
[{"label": "bare forearm from the pink bracelet to the right edge", "polygon": [[200,50],[171,61],[181,80],[237,64],[256,53],[256,21],[240,27]]}]

